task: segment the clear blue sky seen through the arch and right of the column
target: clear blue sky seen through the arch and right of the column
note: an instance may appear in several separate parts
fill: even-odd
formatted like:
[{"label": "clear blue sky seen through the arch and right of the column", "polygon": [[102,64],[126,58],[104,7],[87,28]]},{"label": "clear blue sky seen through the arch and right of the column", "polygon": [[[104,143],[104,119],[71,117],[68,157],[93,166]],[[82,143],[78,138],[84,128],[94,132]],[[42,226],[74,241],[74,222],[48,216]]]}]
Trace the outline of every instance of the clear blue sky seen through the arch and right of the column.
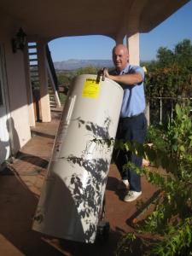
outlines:
[{"label": "clear blue sky seen through the arch and right of the column", "polygon": [[[188,38],[192,42],[192,1],[186,3],[176,13],[148,33],[140,33],[141,61],[154,60],[162,46],[174,49],[177,43]],[[111,50],[115,42],[104,36],[83,36],[57,38],[49,42],[53,61],[111,60]]]}]

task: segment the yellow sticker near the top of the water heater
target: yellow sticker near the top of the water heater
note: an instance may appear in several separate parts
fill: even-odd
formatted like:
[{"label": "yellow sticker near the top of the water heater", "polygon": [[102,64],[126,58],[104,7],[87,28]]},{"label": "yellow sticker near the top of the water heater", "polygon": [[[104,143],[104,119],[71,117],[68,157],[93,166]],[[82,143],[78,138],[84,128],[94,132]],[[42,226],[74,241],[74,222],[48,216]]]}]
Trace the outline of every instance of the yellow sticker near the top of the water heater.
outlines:
[{"label": "yellow sticker near the top of the water heater", "polygon": [[97,98],[100,90],[100,82],[96,79],[85,79],[82,91],[83,97]]}]

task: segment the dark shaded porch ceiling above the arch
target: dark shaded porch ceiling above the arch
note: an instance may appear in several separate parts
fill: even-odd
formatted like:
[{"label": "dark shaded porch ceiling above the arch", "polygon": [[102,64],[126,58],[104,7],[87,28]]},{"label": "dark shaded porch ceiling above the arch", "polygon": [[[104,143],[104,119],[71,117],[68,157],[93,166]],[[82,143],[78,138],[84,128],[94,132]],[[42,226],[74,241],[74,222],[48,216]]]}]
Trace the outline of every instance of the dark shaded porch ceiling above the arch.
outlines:
[{"label": "dark shaded porch ceiling above the arch", "polygon": [[0,9],[27,35],[119,38],[148,32],[189,0],[1,0]]}]

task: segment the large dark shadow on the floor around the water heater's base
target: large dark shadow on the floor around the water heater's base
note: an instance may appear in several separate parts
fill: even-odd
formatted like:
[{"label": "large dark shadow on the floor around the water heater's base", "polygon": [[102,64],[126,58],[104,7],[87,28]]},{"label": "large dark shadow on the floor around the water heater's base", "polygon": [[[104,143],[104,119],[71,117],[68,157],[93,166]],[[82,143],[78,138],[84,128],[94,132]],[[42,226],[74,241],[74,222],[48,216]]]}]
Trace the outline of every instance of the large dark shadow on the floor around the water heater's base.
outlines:
[{"label": "large dark shadow on the floor around the water heater's base", "polygon": [[38,196],[19,176],[3,175],[0,183],[0,232],[20,253],[28,256],[114,255],[122,230],[110,230],[108,241],[97,241],[95,244],[45,236],[32,230]]}]

